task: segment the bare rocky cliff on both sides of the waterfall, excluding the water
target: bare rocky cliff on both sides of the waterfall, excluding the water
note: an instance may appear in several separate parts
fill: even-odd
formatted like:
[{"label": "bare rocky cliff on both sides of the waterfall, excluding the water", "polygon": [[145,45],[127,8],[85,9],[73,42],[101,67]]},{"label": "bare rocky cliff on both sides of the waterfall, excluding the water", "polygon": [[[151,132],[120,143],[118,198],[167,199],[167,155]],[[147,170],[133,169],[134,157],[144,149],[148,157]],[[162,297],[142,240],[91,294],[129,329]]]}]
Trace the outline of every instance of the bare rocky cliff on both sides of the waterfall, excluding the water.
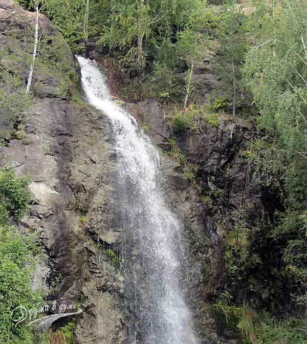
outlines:
[{"label": "bare rocky cliff on both sides of the waterfall, excluding the water", "polygon": [[[24,80],[32,52],[28,26],[34,26],[33,13],[12,0],[0,0],[0,41],[6,47],[1,63]],[[79,344],[130,343],[113,179],[120,166],[110,124],[83,100],[69,48],[64,46],[60,56],[51,49],[62,40],[43,15],[40,28],[46,58],[55,57],[65,64],[59,72],[58,65],[46,67],[43,59],[38,61],[33,87],[36,102],[19,118],[25,137],[6,140],[1,156],[2,164],[12,163],[17,175],[30,172],[32,176],[30,215],[18,228],[36,230],[43,247],[34,285],[47,289],[58,279],[52,297],[63,304],[81,304],[83,313],[75,331]],[[69,77],[63,78],[65,73]],[[156,101],[122,106],[146,119],[147,133],[160,149],[169,207],[185,224],[189,248],[185,283],[196,329],[204,343],[222,342],[212,314],[212,297],[227,282],[225,237],[239,207],[244,205],[251,218],[256,217],[270,197],[253,178],[245,154],[249,128],[228,118],[218,126],[203,123],[197,133],[187,129],[176,134]],[[167,154],[170,137],[177,137],[187,160],[198,166],[200,187]]]}]

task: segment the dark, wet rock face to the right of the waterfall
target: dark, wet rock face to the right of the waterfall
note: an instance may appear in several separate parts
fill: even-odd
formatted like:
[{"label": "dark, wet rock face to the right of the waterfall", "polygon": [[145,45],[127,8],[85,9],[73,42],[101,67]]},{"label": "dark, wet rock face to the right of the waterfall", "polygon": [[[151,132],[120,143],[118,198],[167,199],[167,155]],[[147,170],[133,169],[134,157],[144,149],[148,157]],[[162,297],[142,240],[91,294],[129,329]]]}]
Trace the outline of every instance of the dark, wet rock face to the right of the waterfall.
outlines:
[{"label": "dark, wet rock face to the right of the waterfall", "polygon": [[[142,102],[144,116],[150,118],[150,102]],[[186,288],[190,295],[194,322],[202,338],[209,342],[235,342],[218,338],[218,325],[211,316],[214,290],[227,283],[226,235],[233,229],[239,209],[248,212],[247,223],[266,208],[269,192],[254,177],[248,160],[249,127],[237,119],[221,119],[218,127],[203,123],[198,131],[187,128],[179,134],[161,127],[163,114],[157,109],[148,133],[162,138],[157,142],[168,150],[166,139],[177,141],[188,162],[198,166],[199,188],[183,174],[184,166],[161,149],[161,168],[166,179],[169,206],[185,224],[187,245]],[[158,120],[156,120],[158,119]],[[153,134],[152,134],[153,133]],[[163,139],[164,138],[164,139]],[[206,342],[206,341],[205,341]]]}]

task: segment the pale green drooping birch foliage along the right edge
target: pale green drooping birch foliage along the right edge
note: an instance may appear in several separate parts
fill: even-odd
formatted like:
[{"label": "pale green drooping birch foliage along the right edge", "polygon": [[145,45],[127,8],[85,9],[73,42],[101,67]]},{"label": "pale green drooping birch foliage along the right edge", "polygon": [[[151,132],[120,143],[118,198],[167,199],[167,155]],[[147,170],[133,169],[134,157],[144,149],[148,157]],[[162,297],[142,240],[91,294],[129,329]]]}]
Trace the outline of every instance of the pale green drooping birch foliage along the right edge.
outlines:
[{"label": "pale green drooping birch foliage along the right edge", "polygon": [[276,245],[286,247],[284,273],[298,286],[298,302],[306,305],[307,4],[281,0],[273,8],[261,5],[259,42],[248,53],[244,70],[259,111],[251,158],[285,209],[275,213],[272,236]]}]

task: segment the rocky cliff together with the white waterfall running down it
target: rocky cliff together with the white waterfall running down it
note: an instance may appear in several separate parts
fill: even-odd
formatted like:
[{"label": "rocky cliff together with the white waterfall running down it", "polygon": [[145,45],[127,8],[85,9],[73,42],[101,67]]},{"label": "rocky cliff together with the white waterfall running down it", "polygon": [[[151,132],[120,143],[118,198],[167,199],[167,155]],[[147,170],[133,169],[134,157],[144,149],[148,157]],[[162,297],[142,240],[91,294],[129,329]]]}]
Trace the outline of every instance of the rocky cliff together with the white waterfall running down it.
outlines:
[{"label": "rocky cliff together with the white waterfall running down it", "polygon": [[[15,56],[31,57],[32,34],[25,42],[24,33],[25,23],[33,29],[33,15],[0,0],[0,41]],[[52,48],[62,38],[42,14],[40,20]],[[68,69],[76,71],[72,52],[65,45],[62,50]],[[28,74],[24,58],[4,56],[1,63],[21,79]],[[157,101],[121,102],[148,125],[157,151],[134,118],[108,101],[96,67],[87,81],[100,88],[94,105],[101,109],[103,101],[103,112],[49,68],[47,73],[37,64],[36,103],[19,118],[26,137],[0,147],[1,164],[12,163],[18,177],[28,171],[32,177],[30,214],[16,228],[37,231],[43,248],[34,287],[48,289],[59,279],[52,297],[80,303],[78,344],[190,344],[196,342],[191,328],[202,344],[238,343],[231,334],[219,337],[212,304],[214,290],[227,283],[225,238],[233,212],[244,203],[256,218],[272,203],[249,171],[248,128],[225,119],[218,127],[204,122],[197,133],[172,133]],[[78,72],[72,75],[78,79]],[[209,86],[215,88],[211,81]],[[171,137],[199,166],[201,191],[165,154]],[[210,199],[218,188],[223,195]]]}]

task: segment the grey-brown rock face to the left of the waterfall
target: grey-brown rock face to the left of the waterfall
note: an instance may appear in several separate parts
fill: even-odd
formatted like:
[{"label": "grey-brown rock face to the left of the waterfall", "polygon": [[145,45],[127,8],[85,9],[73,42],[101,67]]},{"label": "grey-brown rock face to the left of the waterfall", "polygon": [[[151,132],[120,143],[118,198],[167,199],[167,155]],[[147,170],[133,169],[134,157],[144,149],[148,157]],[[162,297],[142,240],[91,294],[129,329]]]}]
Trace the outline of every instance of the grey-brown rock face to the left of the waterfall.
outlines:
[{"label": "grey-brown rock face to the left of the waterfall", "polygon": [[[17,56],[24,44],[18,30],[24,20],[33,28],[33,16],[11,0],[0,0],[0,41],[3,46],[11,44]],[[44,35],[59,36],[45,16],[40,16],[40,25],[45,26]],[[26,53],[31,50],[31,42],[26,42]],[[70,49],[65,56],[73,70]],[[23,62],[3,58],[1,63],[21,77],[24,68],[28,73],[29,66]],[[116,229],[110,229],[116,208],[113,173],[117,165],[109,143],[109,122],[82,100],[67,100],[66,92],[58,92],[62,80],[57,71],[49,72],[35,70],[38,98],[20,118],[26,137],[10,141],[2,150],[2,164],[10,162],[17,176],[29,172],[32,178],[30,216],[16,227],[36,230],[43,247],[33,288],[47,290],[59,277],[51,297],[58,304],[81,304],[77,342],[120,343],[125,338],[123,277],[111,262],[111,245],[107,246],[119,241]]]}]

